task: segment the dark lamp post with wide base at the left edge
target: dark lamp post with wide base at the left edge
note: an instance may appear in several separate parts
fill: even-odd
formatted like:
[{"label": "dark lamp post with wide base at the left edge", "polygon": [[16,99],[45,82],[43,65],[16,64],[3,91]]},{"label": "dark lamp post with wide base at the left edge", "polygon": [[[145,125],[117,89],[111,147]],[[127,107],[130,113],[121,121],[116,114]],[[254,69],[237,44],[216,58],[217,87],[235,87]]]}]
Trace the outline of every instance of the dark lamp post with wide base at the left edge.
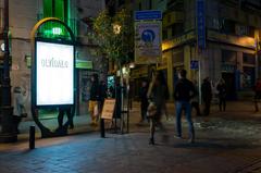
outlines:
[{"label": "dark lamp post with wide base at the left edge", "polygon": [[2,78],[2,132],[0,141],[11,143],[17,140],[17,134],[14,133],[13,108],[11,107],[11,86],[10,86],[10,67],[9,67],[9,0],[4,0],[4,58],[3,58],[3,78]]}]

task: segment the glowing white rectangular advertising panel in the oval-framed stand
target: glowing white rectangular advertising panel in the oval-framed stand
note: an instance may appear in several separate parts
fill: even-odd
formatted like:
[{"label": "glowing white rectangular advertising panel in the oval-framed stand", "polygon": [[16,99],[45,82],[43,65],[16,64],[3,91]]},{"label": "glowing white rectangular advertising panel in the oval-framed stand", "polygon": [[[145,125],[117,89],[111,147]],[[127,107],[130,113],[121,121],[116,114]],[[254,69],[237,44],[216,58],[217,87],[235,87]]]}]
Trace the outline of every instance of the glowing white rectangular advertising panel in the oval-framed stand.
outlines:
[{"label": "glowing white rectangular advertising panel in the oval-framed stand", "polygon": [[74,47],[36,41],[36,106],[74,103]]}]

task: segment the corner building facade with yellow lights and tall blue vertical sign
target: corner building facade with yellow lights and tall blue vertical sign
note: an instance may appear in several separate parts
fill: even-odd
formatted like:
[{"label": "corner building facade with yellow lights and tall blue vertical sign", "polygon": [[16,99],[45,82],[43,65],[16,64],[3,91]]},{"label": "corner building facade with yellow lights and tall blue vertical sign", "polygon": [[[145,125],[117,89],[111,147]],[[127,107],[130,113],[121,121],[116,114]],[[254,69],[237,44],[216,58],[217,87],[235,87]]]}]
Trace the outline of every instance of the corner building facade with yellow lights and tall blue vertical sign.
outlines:
[{"label": "corner building facade with yellow lights and tall blue vertical sign", "polygon": [[252,89],[260,76],[260,1],[148,0],[136,4],[137,10],[159,7],[163,11],[163,55],[157,69],[165,73],[171,94],[181,69],[199,84],[210,77],[213,87],[224,78],[228,99]]}]

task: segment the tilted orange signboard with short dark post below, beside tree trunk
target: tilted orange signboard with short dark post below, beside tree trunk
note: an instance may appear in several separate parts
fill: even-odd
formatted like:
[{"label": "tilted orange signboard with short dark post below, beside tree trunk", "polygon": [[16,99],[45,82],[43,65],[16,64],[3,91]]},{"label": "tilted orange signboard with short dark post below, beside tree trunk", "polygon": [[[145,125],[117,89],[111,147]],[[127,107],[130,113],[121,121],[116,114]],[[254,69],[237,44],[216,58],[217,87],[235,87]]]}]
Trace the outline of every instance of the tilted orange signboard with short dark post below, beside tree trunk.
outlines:
[{"label": "tilted orange signboard with short dark post below, beside tree trunk", "polygon": [[100,134],[102,138],[105,137],[104,120],[112,121],[114,109],[115,109],[115,99],[105,99],[102,108],[102,112],[101,112],[101,120],[100,120]]}]

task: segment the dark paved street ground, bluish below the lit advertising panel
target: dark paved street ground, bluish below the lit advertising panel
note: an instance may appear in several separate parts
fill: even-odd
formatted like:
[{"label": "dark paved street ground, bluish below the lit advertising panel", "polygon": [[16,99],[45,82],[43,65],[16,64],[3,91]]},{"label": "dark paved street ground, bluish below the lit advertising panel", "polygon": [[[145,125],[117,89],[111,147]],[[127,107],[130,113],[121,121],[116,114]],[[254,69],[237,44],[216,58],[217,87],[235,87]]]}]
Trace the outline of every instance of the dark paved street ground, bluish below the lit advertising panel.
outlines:
[{"label": "dark paved street ground, bluish below the lit advertising panel", "polygon": [[[210,116],[194,119],[195,144],[187,143],[185,120],[184,139],[176,139],[174,116],[170,121],[163,116],[167,132],[157,132],[157,145],[148,145],[148,124],[137,124],[138,103],[132,110],[130,133],[125,135],[107,133],[107,138],[100,138],[99,133],[90,133],[86,115],[77,116],[79,125],[74,131],[84,134],[38,138],[34,150],[28,150],[26,140],[0,144],[0,172],[260,173],[261,113],[253,112],[251,106],[228,102],[226,112],[212,106]],[[169,104],[169,110],[173,115],[174,106]]]}]

